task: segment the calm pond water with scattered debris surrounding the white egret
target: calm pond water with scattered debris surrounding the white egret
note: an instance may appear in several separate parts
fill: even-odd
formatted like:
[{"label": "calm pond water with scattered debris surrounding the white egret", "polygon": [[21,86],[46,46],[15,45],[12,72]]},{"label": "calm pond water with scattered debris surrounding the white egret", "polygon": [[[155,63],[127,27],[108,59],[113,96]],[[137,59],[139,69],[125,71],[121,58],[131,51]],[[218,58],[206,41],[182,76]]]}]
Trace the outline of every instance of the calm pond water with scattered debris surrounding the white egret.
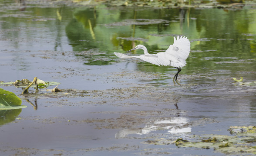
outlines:
[{"label": "calm pond water with scattered debris surrounding the white egret", "polygon": [[[35,76],[61,82],[60,93],[1,85],[27,108],[0,112],[1,155],[225,155],[213,148],[154,145],[193,135],[232,136],[256,124],[256,11],[0,5],[0,81]],[[191,41],[176,69],[123,60],[142,44],[165,51],[173,36]],[[142,54],[140,50],[129,55]],[[253,146],[253,145],[252,145]],[[255,146],[255,145],[254,145]],[[253,155],[253,153],[248,153]]]}]

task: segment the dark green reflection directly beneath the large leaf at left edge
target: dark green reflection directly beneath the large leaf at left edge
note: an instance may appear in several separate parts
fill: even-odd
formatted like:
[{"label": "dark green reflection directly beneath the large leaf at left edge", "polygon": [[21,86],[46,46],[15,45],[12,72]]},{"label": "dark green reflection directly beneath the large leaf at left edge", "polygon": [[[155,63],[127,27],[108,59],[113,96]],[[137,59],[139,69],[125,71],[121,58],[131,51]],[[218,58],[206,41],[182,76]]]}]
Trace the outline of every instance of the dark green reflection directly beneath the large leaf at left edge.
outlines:
[{"label": "dark green reflection directly beneath the large leaf at left edge", "polygon": [[0,126],[14,121],[20,112],[21,109],[0,110]]}]

